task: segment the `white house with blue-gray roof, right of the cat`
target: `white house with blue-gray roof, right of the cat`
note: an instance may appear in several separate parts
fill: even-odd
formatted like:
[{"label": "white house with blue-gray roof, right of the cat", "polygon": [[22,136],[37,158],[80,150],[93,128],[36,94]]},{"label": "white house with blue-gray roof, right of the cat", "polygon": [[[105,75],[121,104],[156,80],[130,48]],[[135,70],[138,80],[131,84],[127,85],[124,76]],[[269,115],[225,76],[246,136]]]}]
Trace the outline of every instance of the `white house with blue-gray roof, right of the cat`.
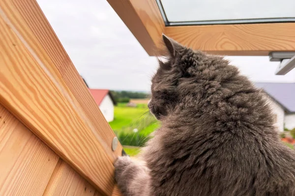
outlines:
[{"label": "white house with blue-gray roof, right of the cat", "polygon": [[279,131],[295,128],[295,83],[256,83],[269,95]]}]

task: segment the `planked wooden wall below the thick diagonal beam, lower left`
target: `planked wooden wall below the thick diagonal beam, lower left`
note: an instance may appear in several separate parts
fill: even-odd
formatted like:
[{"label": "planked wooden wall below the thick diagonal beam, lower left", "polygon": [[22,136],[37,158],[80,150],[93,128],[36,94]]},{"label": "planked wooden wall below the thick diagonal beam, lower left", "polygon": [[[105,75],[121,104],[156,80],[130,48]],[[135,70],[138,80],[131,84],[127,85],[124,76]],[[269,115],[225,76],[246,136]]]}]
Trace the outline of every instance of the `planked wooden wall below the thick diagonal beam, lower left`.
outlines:
[{"label": "planked wooden wall below the thick diagonal beam, lower left", "polygon": [[0,105],[0,196],[101,196]]}]

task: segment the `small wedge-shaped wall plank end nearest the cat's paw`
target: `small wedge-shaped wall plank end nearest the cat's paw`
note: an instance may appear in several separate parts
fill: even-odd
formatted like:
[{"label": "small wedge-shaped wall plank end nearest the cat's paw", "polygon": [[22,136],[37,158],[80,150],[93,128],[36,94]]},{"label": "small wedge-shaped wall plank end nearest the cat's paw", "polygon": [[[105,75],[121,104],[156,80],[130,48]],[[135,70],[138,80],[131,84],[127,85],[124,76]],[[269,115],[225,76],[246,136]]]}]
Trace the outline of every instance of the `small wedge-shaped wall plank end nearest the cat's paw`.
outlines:
[{"label": "small wedge-shaped wall plank end nearest the cat's paw", "polygon": [[94,196],[95,189],[68,164],[59,163],[43,196]]}]

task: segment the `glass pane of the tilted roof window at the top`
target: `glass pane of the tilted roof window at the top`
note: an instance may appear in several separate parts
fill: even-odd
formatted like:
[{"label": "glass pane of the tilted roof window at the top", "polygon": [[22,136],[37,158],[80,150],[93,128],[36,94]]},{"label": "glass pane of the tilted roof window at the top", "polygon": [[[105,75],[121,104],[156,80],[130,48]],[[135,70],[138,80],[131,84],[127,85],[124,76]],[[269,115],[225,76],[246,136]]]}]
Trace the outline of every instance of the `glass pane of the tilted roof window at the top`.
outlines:
[{"label": "glass pane of the tilted roof window at the top", "polygon": [[160,0],[168,22],[255,23],[295,21],[295,0]]}]

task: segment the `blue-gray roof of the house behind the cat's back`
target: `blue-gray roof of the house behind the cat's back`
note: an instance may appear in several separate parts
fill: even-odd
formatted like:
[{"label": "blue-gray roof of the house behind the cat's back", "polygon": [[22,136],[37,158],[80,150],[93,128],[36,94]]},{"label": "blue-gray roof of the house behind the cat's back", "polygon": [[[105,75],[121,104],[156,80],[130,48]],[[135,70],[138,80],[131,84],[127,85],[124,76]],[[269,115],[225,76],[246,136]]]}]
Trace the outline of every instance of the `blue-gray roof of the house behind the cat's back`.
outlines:
[{"label": "blue-gray roof of the house behind the cat's back", "polygon": [[255,83],[287,111],[295,112],[295,83]]}]

